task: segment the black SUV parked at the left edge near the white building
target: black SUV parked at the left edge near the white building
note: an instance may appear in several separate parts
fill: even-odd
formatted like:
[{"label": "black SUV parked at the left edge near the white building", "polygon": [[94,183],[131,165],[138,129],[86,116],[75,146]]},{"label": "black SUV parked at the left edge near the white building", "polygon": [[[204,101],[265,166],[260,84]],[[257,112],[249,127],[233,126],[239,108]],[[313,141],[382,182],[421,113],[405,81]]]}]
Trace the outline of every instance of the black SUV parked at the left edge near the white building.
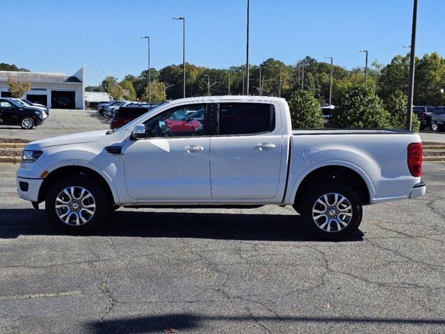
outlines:
[{"label": "black SUV parked at the left edge near the white building", "polygon": [[42,122],[41,109],[27,106],[8,97],[0,99],[0,125],[20,125],[23,129],[32,129]]}]

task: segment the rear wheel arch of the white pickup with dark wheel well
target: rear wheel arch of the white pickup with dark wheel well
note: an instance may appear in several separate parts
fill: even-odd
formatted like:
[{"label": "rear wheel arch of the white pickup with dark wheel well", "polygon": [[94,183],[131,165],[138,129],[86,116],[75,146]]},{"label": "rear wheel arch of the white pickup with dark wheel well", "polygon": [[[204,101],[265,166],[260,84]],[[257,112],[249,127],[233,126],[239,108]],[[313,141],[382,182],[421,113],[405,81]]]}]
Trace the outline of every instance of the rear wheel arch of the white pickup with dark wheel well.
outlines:
[{"label": "rear wheel arch of the white pickup with dark wheel well", "polygon": [[371,200],[375,198],[374,186],[364,170],[346,161],[326,161],[324,164],[317,164],[305,170],[294,182],[287,200],[291,204],[298,205],[302,194],[311,184],[332,180],[340,180],[351,186],[364,205],[371,204]]}]

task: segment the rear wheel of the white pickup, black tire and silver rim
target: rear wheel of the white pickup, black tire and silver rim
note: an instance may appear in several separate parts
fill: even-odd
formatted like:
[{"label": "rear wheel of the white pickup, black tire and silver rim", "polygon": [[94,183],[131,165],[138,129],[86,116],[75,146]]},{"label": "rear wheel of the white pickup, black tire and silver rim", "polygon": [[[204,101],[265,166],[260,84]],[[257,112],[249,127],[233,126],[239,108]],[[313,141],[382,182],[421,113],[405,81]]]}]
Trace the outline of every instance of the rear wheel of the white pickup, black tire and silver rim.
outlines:
[{"label": "rear wheel of the white pickup, black tire and silver rim", "polygon": [[[346,200],[341,201],[341,197],[337,197],[338,207],[334,204],[335,193],[346,198]],[[327,195],[327,203],[332,203],[329,209],[326,205],[321,205],[320,202],[317,202],[317,200],[324,195]],[[349,206],[350,209],[346,210]],[[320,215],[317,215],[315,212],[313,216],[313,209],[316,211],[324,211],[326,209],[326,212],[329,214],[322,212]],[[346,212],[346,214],[352,214],[352,216],[349,217],[346,214],[341,214],[341,210]],[[359,228],[362,222],[362,204],[355,191],[350,189],[349,186],[339,182],[327,182],[325,184],[317,184],[307,192],[307,195],[303,198],[300,205],[300,214],[302,215],[302,220],[307,230],[315,237],[338,241],[345,239]],[[333,215],[330,216],[330,214]],[[316,218],[317,216],[320,216],[320,218]],[[316,219],[314,219],[314,217]],[[338,222],[334,219],[337,219]],[[327,223],[327,221],[329,221],[329,223]],[[330,232],[327,230],[330,230]]]}]

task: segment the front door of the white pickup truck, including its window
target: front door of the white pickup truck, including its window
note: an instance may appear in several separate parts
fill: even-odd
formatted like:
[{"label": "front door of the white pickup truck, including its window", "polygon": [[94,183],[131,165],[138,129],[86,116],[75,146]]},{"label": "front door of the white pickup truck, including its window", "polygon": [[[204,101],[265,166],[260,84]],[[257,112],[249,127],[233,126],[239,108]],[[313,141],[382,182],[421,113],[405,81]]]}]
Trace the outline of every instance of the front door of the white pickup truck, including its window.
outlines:
[{"label": "front door of the white pickup truck, including its window", "polygon": [[127,138],[124,170],[131,198],[211,199],[210,137],[205,119],[182,119],[191,108],[209,109],[207,104],[172,107],[145,122],[149,138]]}]

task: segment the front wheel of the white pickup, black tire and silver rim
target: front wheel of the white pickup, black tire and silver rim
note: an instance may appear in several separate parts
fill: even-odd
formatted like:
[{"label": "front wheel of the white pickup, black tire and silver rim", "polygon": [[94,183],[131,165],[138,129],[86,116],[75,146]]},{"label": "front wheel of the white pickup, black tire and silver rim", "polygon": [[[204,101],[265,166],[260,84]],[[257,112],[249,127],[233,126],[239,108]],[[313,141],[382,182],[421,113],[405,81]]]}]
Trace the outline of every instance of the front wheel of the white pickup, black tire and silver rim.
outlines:
[{"label": "front wheel of the white pickup, black tire and silver rim", "polygon": [[[68,189],[68,194],[63,193],[64,189]],[[87,198],[88,194],[84,193],[83,199],[79,201],[78,198],[82,198],[80,196],[81,189],[86,189],[91,196]],[[74,191],[74,196],[70,196],[72,191]],[[60,198],[60,196],[64,197]],[[58,197],[59,200],[57,200]],[[72,197],[74,197],[74,202]],[[63,207],[56,209],[56,200]],[[64,202],[60,202],[60,200]],[[70,207],[65,205],[65,201]],[[95,205],[95,207],[93,213],[90,214],[92,205]],[[87,207],[88,209],[86,209]],[[86,233],[99,228],[105,221],[110,207],[111,203],[102,186],[85,175],[70,175],[58,180],[49,189],[45,200],[45,210],[51,224],[70,234]],[[65,216],[64,213],[66,213]],[[63,220],[59,218],[59,215],[63,216]],[[67,222],[65,222],[66,217],[69,220]],[[86,222],[83,220],[86,220]],[[76,225],[76,221],[80,224]]]}]

